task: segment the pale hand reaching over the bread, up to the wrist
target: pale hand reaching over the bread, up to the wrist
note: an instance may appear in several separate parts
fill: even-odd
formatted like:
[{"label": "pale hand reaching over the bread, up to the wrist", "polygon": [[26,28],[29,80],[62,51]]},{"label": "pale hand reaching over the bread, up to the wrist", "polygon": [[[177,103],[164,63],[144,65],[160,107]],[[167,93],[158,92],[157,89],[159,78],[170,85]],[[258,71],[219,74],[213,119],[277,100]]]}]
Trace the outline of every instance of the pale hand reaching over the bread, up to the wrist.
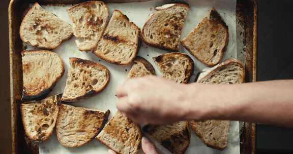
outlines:
[{"label": "pale hand reaching over the bread, up to the wrist", "polygon": [[187,85],[157,76],[133,78],[117,88],[116,107],[137,123],[177,122],[188,112],[188,91]]}]

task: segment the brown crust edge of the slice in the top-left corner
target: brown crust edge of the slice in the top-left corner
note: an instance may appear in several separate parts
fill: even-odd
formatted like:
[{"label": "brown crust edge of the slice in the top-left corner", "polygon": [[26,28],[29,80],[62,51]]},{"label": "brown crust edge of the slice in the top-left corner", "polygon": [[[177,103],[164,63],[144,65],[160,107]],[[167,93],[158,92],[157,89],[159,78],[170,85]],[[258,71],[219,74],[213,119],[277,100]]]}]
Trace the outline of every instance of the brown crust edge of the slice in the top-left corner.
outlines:
[{"label": "brown crust edge of the slice in the top-left corner", "polygon": [[[21,38],[22,41],[24,40],[24,37],[23,37],[23,31],[22,31],[22,30],[23,30],[22,27],[23,27],[24,21],[28,18],[28,15],[31,14],[31,13],[33,12],[33,8],[37,7],[38,5],[39,5],[39,3],[36,2],[36,3],[33,5],[33,7],[32,7],[31,9],[29,9],[29,10],[26,12],[24,18],[22,19],[22,22],[21,22],[21,24],[20,24],[20,28],[19,28],[19,36],[20,36],[20,38]],[[73,31],[72,31],[71,35],[69,35],[68,37],[64,38],[64,39],[63,39],[60,43],[58,43],[56,46],[48,46],[48,47],[44,47],[44,46],[40,46],[40,45],[37,44],[35,47],[40,48],[40,49],[45,49],[45,50],[56,49],[56,48],[57,48],[58,46],[60,46],[63,42],[70,40],[70,38],[71,38],[72,36],[73,36]],[[24,42],[24,41],[23,41],[23,42]],[[29,44],[28,42],[25,42],[25,43]]]}]

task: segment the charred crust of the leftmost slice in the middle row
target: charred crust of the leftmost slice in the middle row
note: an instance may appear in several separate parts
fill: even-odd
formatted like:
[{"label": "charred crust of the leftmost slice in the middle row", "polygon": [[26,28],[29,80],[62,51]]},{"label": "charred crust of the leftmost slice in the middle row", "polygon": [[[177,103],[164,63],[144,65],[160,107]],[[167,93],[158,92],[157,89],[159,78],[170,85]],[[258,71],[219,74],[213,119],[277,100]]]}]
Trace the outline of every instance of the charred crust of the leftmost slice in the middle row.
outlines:
[{"label": "charred crust of the leftmost slice in the middle row", "polygon": [[[54,83],[48,89],[44,89],[43,91],[41,91],[37,95],[30,95],[25,92],[26,88],[23,86],[21,101],[41,100],[41,99],[45,98],[53,90],[56,83],[60,80],[60,78],[62,78],[62,76],[65,72],[64,62],[63,62],[63,59],[58,54],[51,52],[51,51],[47,51],[47,50],[24,50],[21,52],[22,57],[25,56],[26,53],[29,53],[29,54],[31,54],[31,53],[55,54],[58,58],[60,58],[60,61],[62,61],[62,63],[61,63],[62,72],[59,76],[57,76]],[[22,73],[24,73],[23,70],[22,70]]]}]

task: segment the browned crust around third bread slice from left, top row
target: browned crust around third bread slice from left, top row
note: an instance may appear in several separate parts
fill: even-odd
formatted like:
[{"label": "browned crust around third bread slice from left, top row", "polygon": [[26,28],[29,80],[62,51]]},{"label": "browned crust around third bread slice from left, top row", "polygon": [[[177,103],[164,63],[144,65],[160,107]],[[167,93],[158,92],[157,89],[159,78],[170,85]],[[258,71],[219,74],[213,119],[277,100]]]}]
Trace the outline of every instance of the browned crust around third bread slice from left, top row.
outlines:
[{"label": "browned crust around third bread slice from left, top row", "polygon": [[[123,14],[120,10],[114,10],[113,12],[119,12],[121,15],[122,15],[122,17],[124,18],[124,19],[126,19],[128,22],[129,22],[129,24],[130,25],[132,25],[132,26],[134,26],[135,27],[135,29],[138,31],[137,33],[138,33],[138,37],[137,37],[137,40],[136,40],[136,42],[137,42],[137,47],[136,47],[136,50],[135,50],[135,52],[133,53],[133,58],[131,58],[131,59],[129,59],[129,61],[127,61],[127,62],[125,62],[125,63],[122,63],[122,62],[118,62],[118,61],[115,61],[115,60],[113,60],[113,59],[109,59],[109,58],[107,58],[107,57],[105,57],[105,56],[102,56],[102,54],[99,54],[99,52],[96,52],[96,50],[97,50],[97,47],[93,50],[93,53],[97,56],[97,57],[99,57],[99,58],[101,58],[101,59],[103,59],[103,60],[105,60],[105,61],[107,61],[107,62],[110,62],[110,63],[113,63],[113,64],[116,64],[116,65],[130,65],[131,64],[131,62],[134,60],[134,58],[136,57],[136,55],[138,54],[138,51],[139,51],[139,49],[140,49],[140,46],[141,46],[141,38],[139,37],[140,36],[140,33],[141,33],[141,31],[140,31],[140,29],[138,28],[138,26],[136,26],[133,22],[131,22],[130,20],[129,20],[129,18],[125,15],[125,14]],[[108,23],[108,25],[109,25],[109,23]],[[108,27],[108,25],[107,25],[107,27]],[[107,27],[105,28],[105,30],[107,29]],[[104,30],[104,31],[105,31]],[[104,37],[105,36],[105,33],[102,35],[102,37]]]}]

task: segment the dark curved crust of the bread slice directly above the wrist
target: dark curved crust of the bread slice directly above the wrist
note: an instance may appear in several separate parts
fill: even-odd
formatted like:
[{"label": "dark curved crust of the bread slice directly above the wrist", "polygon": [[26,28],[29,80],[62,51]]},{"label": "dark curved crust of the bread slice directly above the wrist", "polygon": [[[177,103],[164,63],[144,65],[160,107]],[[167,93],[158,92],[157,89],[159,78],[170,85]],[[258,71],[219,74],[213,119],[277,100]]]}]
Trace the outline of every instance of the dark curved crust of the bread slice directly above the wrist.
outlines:
[{"label": "dark curved crust of the bread slice directly above the wrist", "polygon": [[163,57],[173,57],[173,56],[183,56],[183,57],[186,57],[188,59],[188,62],[190,63],[191,68],[188,69],[187,72],[185,72],[186,78],[184,79],[184,82],[183,82],[183,84],[188,84],[188,82],[190,81],[190,78],[191,78],[191,76],[193,74],[193,71],[194,71],[194,62],[193,62],[193,60],[191,59],[190,56],[188,56],[185,53],[173,52],[173,53],[166,53],[166,54],[159,55],[157,57],[153,57],[153,60],[157,64],[160,64],[160,61],[162,60]]}]

